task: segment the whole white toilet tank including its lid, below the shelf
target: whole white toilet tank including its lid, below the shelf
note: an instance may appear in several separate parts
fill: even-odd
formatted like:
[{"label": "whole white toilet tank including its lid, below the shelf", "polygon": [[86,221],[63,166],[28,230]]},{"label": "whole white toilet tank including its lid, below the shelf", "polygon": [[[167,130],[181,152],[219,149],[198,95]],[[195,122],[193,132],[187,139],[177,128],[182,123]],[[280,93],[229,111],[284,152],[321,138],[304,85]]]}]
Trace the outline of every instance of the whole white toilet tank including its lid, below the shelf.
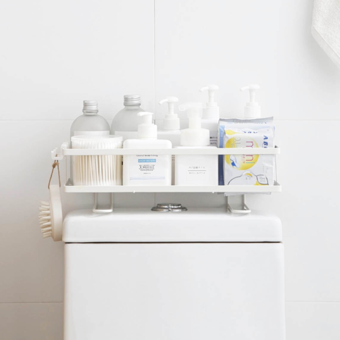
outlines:
[{"label": "whole white toilet tank including its lid, below the shelf", "polygon": [[64,220],[64,340],[284,340],[281,222],[224,209]]}]

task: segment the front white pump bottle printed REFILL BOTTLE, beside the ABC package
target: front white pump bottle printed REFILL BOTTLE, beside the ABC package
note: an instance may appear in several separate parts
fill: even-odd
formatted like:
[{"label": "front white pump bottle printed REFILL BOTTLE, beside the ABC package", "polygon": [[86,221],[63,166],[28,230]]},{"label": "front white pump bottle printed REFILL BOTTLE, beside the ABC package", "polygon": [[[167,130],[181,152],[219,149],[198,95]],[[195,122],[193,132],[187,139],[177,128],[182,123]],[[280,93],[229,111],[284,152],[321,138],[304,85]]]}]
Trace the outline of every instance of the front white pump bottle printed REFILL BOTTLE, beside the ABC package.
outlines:
[{"label": "front white pump bottle printed REFILL BOTTLE, beside the ABC package", "polygon": [[[179,111],[188,111],[189,128],[181,131],[181,146],[178,149],[217,149],[210,145],[208,129],[201,127],[201,103],[185,103],[179,106]],[[218,185],[217,155],[176,155],[175,157],[176,185]]]}]

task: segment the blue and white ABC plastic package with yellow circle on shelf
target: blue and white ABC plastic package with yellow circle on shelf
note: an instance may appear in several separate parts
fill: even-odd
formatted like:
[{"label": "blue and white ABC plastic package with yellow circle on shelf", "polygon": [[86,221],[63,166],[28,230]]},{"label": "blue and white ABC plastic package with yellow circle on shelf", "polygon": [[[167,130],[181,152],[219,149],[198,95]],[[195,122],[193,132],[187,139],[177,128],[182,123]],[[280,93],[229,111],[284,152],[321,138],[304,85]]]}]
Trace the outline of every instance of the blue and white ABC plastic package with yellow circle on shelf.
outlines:
[{"label": "blue and white ABC plastic package with yellow circle on shelf", "polygon": [[274,185],[275,156],[253,155],[252,148],[274,147],[273,117],[220,119],[220,148],[249,148],[246,155],[219,156],[220,185]]}]

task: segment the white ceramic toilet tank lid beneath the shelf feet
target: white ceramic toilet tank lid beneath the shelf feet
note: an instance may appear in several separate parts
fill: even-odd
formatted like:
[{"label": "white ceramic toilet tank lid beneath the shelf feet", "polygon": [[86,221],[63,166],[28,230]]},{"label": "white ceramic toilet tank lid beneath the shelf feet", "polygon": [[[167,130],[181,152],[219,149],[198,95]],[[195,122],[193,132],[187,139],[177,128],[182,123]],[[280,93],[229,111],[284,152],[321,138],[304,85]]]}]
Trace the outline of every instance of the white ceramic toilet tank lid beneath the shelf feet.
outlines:
[{"label": "white ceramic toilet tank lid beneath the shelf feet", "polygon": [[280,219],[252,211],[233,215],[225,209],[185,212],[117,208],[111,214],[90,209],[66,215],[63,241],[73,242],[281,242]]}]

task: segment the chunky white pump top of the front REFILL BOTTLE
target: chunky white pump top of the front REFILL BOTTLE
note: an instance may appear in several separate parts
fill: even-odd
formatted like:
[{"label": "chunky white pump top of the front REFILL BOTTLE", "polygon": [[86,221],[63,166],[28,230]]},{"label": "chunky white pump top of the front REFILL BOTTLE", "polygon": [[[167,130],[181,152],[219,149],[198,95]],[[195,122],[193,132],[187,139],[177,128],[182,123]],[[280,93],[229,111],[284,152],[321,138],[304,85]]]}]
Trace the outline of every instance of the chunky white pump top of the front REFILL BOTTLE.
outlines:
[{"label": "chunky white pump top of the front REFILL BOTTLE", "polygon": [[210,145],[210,132],[201,128],[202,103],[184,103],[179,111],[188,111],[189,128],[181,130],[181,146],[204,147]]}]

